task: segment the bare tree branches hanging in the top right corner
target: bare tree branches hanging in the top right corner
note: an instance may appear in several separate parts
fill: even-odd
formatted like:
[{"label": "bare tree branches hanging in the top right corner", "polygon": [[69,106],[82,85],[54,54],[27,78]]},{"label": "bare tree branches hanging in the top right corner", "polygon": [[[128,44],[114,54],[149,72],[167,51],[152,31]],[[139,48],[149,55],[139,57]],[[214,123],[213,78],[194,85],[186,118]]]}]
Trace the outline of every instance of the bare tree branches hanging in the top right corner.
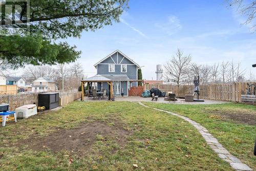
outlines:
[{"label": "bare tree branches hanging in the top right corner", "polygon": [[246,21],[243,24],[249,25],[252,32],[256,31],[256,1],[244,1],[244,0],[229,0],[229,5],[237,7],[242,15],[246,17]]}]

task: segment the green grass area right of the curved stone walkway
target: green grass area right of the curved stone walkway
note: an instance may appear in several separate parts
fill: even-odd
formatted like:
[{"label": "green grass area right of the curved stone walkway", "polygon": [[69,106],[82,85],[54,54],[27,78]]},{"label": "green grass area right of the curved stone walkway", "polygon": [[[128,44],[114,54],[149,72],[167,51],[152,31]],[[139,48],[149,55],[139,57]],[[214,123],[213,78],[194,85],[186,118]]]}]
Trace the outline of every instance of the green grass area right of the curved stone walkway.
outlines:
[{"label": "green grass area right of the curved stone walkway", "polygon": [[[208,105],[164,104],[143,102],[144,104],[171,111],[186,116],[214,135],[219,142],[234,156],[256,169],[256,156],[253,156],[253,146],[256,138],[256,125],[239,123],[235,118],[211,118],[212,115],[243,115],[256,116],[256,107],[249,104],[224,103]],[[225,116],[224,115],[224,116]],[[220,115],[219,115],[220,116]],[[236,116],[234,116],[236,117]],[[253,118],[252,118],[253,119]],[[255,122],[254,122],[255,123]]]}]

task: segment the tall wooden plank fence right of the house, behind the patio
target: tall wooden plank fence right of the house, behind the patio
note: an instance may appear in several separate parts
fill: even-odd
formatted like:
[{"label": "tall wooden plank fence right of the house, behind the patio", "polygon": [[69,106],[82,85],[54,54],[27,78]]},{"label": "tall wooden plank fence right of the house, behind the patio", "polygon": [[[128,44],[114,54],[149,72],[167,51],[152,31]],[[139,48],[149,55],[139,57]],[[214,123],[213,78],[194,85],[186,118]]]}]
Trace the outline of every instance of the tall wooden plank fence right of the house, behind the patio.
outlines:
[{"label": "tall wooden plank fence right of the house, behind the patio", "polygon": [[[256,82],[234,82],[231,84],[200,85],[200,98],[241,102],[241,95],[246,94],[247,83],[256,84]],[[144,90],[150,90],[152,88],[158,88],[166,93],[173,92],[180,98],[184,98],[186,94],[194,93],[194,85],[180,85],[178,87],[173,84],[144,84]]]}]

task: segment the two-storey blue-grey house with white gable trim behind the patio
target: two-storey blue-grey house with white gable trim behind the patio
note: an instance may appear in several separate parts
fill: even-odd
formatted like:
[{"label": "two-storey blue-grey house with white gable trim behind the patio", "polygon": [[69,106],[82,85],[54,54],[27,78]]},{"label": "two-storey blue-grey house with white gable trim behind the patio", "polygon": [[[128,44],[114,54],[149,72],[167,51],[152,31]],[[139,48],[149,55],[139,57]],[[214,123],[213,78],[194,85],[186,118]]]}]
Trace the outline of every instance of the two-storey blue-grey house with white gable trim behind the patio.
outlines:
[{"label": "two-storey blue-grey house with white gable trim behind the patio", "polygon": [[[140,66],[119,50],[97,62],[94,67],[97,69],[97,75],[94,78],[113,82],[114,96],[120,96],[121,93],[128,96],[130,87],[138,86],[136,80],[138,79],[138,68]],[[131,80],[133,82],[130,83]],[[104,89],[109,92],[109,84],[107,82],[97,82],[97,89],[101,91]]]}]

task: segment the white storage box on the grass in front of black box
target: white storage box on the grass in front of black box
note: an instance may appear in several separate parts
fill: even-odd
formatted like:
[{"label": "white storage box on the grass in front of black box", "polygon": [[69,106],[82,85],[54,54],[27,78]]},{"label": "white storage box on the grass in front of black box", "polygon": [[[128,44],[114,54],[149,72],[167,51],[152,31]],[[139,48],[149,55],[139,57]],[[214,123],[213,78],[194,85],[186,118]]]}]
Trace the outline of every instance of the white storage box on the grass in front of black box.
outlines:
[{"label": "white storage box on the grass in front of black box", "polygon": [[27,104],[16,108],[17,118],[28,118],[37,114],[36,104]]}]

